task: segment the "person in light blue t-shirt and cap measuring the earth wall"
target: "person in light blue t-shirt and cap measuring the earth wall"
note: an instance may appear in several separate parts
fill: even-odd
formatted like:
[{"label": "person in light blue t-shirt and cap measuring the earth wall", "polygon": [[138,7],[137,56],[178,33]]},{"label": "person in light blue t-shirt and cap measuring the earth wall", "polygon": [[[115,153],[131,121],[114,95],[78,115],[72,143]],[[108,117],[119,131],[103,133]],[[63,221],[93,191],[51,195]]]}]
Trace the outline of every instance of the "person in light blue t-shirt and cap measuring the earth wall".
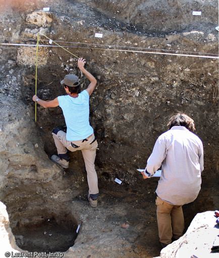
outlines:
[{"label": "person in light blue t-shirt and cap measuring the earth wall", "polygon": [[52,155],[51,160],[64,168],[68,168],[69,155],[67,149],[70,151],[81,150],[87,171],[89,186],[88,200],[92,207],[96,207],[99,192],[94,166],[97,141],[94,137],[93,128],[89,123],[89,97],[97,81],[94,76],[84,68],[85,63],[85,59],[78,59],[79,69],[90,81],[86,90],[80,92],[78,76],[68,74],[61,81],[67,95],[59,96],[51,101],[43,101],[34,95],[33,101],[44,108],[57,106],[62,108],[67,125],[67,133],[58,128],[53,129],[52,136],[57,147],[58,156]]}]

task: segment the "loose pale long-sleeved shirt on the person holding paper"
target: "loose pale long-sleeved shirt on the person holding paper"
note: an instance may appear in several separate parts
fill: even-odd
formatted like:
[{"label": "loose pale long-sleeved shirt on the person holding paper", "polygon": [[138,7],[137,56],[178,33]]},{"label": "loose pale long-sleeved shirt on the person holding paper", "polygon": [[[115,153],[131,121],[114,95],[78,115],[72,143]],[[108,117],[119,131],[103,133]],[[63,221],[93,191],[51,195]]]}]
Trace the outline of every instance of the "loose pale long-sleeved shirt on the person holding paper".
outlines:
[{"label": "loose pale long-sleeved shirt on the person holding paper", "polygon": [[204,169],[201,140],[186,127],[173,126],[156,140],[145,170],[152,176],[161,165],[156,194],[174,205],[194,201]]}]

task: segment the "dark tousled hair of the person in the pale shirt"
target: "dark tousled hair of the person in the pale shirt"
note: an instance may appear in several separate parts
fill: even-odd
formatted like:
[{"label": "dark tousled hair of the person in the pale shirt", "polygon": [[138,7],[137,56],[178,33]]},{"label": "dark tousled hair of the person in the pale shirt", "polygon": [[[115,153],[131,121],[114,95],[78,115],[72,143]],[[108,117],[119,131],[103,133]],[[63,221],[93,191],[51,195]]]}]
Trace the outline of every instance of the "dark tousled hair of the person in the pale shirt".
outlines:
[{"label": "dark tousled hair of the person in the pale shirt", "polygon": [[169,129],[176,125],[185,126],[190,132],[195,131],[194,120],[184,113],[179,112],[170,118],[168,123]]}]

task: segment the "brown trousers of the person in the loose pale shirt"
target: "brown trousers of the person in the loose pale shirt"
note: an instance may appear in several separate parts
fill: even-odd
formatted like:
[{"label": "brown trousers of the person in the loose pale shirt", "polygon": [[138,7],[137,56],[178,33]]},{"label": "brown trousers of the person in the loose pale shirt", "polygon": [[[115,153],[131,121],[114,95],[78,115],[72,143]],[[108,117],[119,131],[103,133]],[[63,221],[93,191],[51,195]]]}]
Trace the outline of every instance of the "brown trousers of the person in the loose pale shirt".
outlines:
[{"label": "brown trousers of the person in the loose pale shirt", "polygon": [[184,217],[182,205],[173,205],[156,198],[156,217],[161,243],[170,244],[172,238],[178,239],[183,235]]}]

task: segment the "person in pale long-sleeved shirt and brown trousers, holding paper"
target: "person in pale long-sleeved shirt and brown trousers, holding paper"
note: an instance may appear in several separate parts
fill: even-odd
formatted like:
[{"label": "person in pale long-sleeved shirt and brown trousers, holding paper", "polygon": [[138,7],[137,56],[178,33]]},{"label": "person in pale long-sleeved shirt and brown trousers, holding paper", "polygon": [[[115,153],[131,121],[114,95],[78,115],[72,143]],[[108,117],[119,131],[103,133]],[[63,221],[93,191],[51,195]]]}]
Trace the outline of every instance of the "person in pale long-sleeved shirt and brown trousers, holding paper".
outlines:
[{"label": "person in pale long-sleeved shirt and brown trousers, holding paper", "polygon": [[166,247],[183,235],[182,205],[196,199],[201,189],[203,145],[193,132],[194,120],[178,113],[171,117],[169,131],[158,137],[142,172],[146,179],[161,166],[156,189],[159,241]]}]

